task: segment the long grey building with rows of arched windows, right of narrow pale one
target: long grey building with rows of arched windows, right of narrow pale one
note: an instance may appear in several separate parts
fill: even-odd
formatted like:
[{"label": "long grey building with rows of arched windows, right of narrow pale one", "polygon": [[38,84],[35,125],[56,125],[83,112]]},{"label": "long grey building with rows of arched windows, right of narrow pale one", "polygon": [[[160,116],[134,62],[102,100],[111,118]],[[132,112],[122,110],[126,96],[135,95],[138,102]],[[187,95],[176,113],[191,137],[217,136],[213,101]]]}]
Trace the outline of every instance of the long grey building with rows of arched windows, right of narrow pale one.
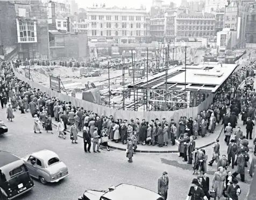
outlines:
[{"label": "long grey building with rows of arched windows, right of narrow pale one", "polygon": [[181,12],[176,18],[176,39],[188,37],[210,38],[215,36],[215,15],[205,12]]}]

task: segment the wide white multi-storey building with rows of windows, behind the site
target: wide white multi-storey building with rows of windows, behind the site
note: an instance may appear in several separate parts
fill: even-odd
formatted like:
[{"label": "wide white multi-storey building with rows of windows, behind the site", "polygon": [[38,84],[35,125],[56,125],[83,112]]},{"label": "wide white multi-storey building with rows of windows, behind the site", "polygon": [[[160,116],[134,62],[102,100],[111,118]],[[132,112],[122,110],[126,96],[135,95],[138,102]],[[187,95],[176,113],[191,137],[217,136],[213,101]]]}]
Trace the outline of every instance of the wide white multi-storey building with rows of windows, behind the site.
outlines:
[{"label": "wide white multi-storey building with rows of windows, behind the site", "polygon": [[87,9],[88,38],[97,42],[103,38],[116,43],[143,41],[146,35],[147,11],[140,9],[106,8],[105,4]]}]

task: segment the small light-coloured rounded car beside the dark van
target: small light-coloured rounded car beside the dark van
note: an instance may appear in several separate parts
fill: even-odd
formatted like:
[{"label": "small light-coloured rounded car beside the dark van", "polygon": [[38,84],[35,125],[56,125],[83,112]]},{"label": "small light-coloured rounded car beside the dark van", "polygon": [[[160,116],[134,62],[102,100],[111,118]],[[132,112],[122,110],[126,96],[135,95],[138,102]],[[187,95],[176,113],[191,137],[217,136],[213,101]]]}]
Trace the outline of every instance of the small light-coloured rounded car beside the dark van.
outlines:
[{"label": "small light-coloured rounded car beside the dark van", "polygon": [[22,158],[29,169],[30,176],[42,184],[59,182],[69,175],[68,168],[59,156],[47,149],[32,153]]}]

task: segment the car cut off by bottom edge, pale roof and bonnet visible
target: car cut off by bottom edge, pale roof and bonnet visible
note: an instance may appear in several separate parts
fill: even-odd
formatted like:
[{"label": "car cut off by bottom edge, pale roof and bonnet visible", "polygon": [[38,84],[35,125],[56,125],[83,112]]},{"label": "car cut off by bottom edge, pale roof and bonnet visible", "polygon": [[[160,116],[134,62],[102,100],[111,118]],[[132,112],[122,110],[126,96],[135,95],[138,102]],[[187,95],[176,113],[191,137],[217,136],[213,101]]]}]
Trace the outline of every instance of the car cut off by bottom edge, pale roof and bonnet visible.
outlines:
[{"label": "car cut off by bottom edge, pale roof and bonnet visible", "polygon": [[119,184],[111,186],[109,190],[86,190],[79,200],[163,200],[163,198],[151,190],[131,184]]}]

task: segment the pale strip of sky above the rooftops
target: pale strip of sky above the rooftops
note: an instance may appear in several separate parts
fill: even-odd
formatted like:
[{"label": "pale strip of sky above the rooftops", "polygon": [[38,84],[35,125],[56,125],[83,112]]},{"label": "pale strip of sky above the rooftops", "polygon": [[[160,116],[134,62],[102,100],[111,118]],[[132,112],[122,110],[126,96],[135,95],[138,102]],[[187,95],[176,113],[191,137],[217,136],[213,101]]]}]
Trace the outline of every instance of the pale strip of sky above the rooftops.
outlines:
[{"label": "pale strip of sky above the rooftops", "polygon": [[[105,3],[106,7],[113,7],[113,6],[118,6],[118,7],[127,7],[127,8],[140,8],[140,5],[144,5],[146,6],[146,9],[149,11],[151,6],[152,6],[152,0],[128,0],[128,1],[124,1],[124,0],[91,0],[91,1],[85,1],[85,0],[75,0],[78,5],[79,8],[93,8],[93,4],[98,4],[101,5],[103,3]],[[169,4],[170,2],[175,2],[176,4],[181,3],[181,0],[163,0],[163,4]]]}]

